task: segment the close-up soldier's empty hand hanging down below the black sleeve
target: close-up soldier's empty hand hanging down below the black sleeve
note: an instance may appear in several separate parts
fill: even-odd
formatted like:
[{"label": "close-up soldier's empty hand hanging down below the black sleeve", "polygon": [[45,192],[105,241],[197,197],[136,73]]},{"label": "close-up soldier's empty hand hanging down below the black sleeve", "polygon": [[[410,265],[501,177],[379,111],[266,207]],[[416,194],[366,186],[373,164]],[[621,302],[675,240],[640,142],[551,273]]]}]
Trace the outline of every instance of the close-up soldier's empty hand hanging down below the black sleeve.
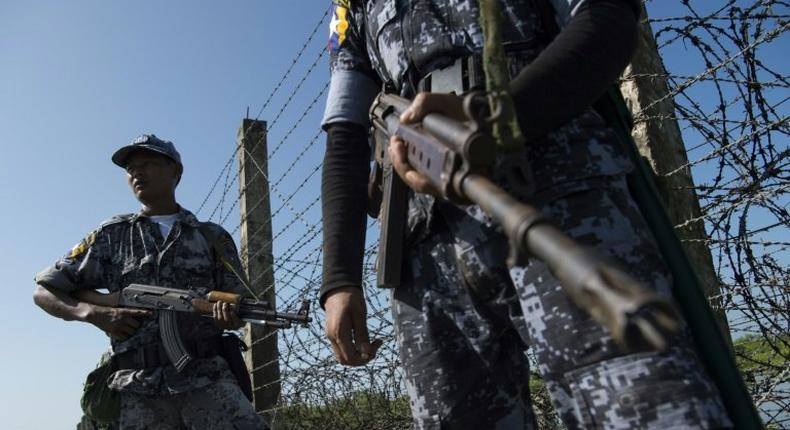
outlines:
[{"label": "close-up soldier's empty hand hanging down below the black sleeve", "polygon": [[376,356],[381,339],[368,338],[367,309],[362,290],[341,287],[327,293],[326,336],[340,364],[362,366]]}]

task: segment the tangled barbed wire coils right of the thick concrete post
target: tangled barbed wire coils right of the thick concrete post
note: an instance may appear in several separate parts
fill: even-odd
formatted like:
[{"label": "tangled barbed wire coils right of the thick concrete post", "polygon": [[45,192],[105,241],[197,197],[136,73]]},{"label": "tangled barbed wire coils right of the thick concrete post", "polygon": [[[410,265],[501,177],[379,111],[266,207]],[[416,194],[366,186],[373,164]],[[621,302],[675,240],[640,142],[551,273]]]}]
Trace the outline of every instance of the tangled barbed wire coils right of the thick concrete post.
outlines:
[{"label": "tangled barbed wire coils right of the thick concrete post", "polygon": [[[787,156],[790,87],[786,68],[760,53],[786,38],[788,3],[727,2],[714,15],[702,3],[682,2],[688,20],[651,20],[662,53],[682,47],[698,53],[703,69],[666,79],[674,119],[693,161],[660,174],[691,171],[702,208],[678,227],[704,223],[720,280],[710,297],[729,319],[736,356],[766,426],[790,425],[790,166]],[[710,6],[707,6],[710,7]],[[783,13],[784,12],[784,13]],[[686,53],[688,55],[688,53]],[[700,94],[708,93],[708,97]]]}]

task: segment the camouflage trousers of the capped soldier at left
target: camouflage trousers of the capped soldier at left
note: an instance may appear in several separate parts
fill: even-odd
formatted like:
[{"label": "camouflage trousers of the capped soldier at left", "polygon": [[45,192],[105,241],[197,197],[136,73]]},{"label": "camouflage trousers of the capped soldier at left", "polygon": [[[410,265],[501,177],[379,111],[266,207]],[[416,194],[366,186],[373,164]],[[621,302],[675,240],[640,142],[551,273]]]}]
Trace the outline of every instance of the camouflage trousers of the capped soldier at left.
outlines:
[{"label": "camouflage trousers of the capped soldier at left", "polygon": [[268,429],[235,382],[218,381],[168,396],[121,393],[121,430]]}]

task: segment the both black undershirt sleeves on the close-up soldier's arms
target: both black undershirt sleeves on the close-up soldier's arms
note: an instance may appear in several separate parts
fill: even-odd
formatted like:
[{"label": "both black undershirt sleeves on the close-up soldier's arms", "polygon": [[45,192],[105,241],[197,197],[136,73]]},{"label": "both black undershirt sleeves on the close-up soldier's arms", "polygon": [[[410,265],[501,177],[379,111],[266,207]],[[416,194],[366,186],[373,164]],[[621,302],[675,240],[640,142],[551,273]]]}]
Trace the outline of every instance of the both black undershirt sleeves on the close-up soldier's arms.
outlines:
[{"label": "both black undershirt sleeves on the close-up soldier's arms", "polygon": [[[628,64],[637,15],[624,0],[588,0],[568,26],[511,81],[527,138],[571,120],[600,97]],[[324,234],[323,306],[328,291],[362,285],[370,148],[367,130],[332,123],[321,184]]]}]

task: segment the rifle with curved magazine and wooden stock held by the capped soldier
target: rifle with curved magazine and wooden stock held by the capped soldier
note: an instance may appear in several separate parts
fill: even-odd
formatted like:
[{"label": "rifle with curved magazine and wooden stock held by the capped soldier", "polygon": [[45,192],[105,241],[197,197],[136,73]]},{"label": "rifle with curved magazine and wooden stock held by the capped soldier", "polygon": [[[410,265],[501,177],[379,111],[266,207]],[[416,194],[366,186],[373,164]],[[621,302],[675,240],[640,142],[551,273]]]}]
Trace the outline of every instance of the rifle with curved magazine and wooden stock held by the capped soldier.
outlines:
[{"label": "rifle with curved magazine and wooden stock held by the capped soldier", "polygon": [[310,302],[302,301],[296,313],[277,312],[270,308],[268,302],[242,297],[239,294],[225,291],[210,291],[205,296],[191,290],[158,287],[155,285],[129,284],[121,290],[117,304],[108,304],[106,297],[93,291],[80,291],[75,297],[98,305],[110,305],[126,308],[155,309],[159,314],[159,335],[167,357],[176,371],[183,370],[193,357],[187,350],[178,331],[176,312],[189,312],[211,317],[214,304],[218,301],[230,303],[243,321],[266,325],[274,328],[290,328],[292,323],[307,326],[310,318]]}]

